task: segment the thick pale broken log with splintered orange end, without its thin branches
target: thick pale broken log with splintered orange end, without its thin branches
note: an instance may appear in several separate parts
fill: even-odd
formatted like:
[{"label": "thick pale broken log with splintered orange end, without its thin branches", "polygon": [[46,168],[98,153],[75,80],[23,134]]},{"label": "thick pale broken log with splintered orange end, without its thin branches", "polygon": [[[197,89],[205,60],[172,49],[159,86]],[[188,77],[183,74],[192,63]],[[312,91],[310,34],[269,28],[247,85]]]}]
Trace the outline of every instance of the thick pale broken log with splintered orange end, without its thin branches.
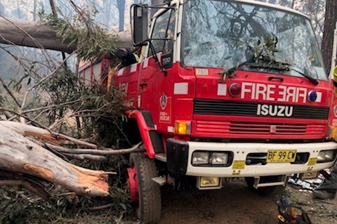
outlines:
[{"label": "thick pale broken log with splintered orange end, without its thin branches", "polygon": [[39,132],[41,136],[49,133],[27,124],[0,121],[0,169],[37,176],[78,195],[108,195],[107,178],[111,172],[93,171],[65,162],[25,137]]}]

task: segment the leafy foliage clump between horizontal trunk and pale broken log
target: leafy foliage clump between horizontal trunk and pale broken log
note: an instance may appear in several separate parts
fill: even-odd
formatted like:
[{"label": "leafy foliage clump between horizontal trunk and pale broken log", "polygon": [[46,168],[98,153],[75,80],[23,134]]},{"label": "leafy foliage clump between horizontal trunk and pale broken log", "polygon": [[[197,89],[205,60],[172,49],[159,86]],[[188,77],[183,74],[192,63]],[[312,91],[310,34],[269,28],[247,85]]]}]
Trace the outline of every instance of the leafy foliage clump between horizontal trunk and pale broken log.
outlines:
[{"label": "leafy foliage clump between horizontal trunk and pale broken log", "polygon": [[[100,84],[85,85],[73,72],[63,68],[53,78],[42,82],[40,88],[50,96],[46,102],[46,106],[51,108],[47,113],[46,125],[72,115],[81,118],[81,124],[77,126],[77,137],[95,137],[93,141],[105,147],[111,147],[119,138],[126,106],[124,92],[116,86],[107,91]],[[54,105],[58,106],[53,107]],[[64,132],[66,127],[61,127],[63,129],[58,131]]]}]

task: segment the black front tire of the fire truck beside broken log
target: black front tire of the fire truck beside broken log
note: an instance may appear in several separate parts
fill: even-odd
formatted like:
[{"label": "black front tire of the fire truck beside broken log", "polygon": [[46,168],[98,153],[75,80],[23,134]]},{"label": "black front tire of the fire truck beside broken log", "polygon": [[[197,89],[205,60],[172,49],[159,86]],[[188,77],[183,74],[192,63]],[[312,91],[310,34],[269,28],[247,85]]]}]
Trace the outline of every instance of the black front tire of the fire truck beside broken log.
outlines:
[{"label": "black front tire of the fire truck beside broken log", "polygon": [[157,166],[146,154],[131,153],[130,165],[135,166],[138,178],[138,218],[144,223],[158,223],[161,215],[160,186],[152,178],[158,176]]}]

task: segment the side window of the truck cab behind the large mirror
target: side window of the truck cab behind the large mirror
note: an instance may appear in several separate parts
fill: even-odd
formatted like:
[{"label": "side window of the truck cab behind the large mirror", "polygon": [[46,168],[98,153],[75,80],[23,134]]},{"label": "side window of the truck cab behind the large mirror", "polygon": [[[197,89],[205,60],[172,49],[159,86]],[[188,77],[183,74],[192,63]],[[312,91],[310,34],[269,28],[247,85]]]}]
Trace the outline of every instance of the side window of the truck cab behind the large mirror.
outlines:
[{"label": "side window of the truck cab behind the large mirror", "polygon": [[[175,17],[175,11],[169,9],[165,13],[159,15],[155,20],[151,41],[154,47],[154,53],[162,52],[163,55],[166,55],[173,52]],[[153,52],[150,50],[148,55],[153,55]]]}]

